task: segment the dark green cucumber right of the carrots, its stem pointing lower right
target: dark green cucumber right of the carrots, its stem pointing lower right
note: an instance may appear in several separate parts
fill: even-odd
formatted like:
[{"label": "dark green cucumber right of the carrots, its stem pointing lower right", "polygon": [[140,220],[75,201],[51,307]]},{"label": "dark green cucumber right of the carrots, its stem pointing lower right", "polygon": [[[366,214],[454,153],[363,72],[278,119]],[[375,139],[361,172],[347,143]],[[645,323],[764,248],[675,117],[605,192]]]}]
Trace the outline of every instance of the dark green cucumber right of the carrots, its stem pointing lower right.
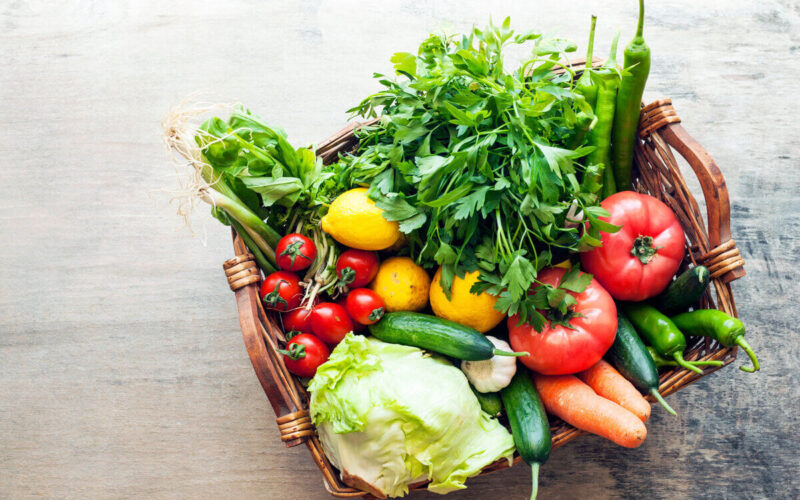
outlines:
[{"label": "dark green cucumber right of the carrots, its stem pointing lower right", "polygon": [[620,311],[617,311],[617,336],[605,358],[637,389],[652,394],[665,410],[676,414],[658,392],[658,368],[653,358],[630,320]]}]

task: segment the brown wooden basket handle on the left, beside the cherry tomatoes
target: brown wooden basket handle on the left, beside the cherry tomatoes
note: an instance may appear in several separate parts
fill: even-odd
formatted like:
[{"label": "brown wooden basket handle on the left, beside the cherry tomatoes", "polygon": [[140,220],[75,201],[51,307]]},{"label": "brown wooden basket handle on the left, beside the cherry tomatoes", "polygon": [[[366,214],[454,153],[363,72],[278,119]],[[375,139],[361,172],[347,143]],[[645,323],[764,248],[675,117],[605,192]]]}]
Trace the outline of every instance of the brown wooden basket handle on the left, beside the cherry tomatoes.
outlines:
[{"label": "brown wooden basket handle on the left, beside the cherry tomatoes", "polygon": [[277,352],[276,339],[283,338],[282,334],[273,331],[278,327],[266,317],[261,306],[258,293],[261,271],[242,239],[232,232],[236,256],[225,261],[222,267],[236,294],[244,345],[277,417],[281,440],[287,447],[297,446],[314,434],[314,428],[301,397],[302,389]]}]

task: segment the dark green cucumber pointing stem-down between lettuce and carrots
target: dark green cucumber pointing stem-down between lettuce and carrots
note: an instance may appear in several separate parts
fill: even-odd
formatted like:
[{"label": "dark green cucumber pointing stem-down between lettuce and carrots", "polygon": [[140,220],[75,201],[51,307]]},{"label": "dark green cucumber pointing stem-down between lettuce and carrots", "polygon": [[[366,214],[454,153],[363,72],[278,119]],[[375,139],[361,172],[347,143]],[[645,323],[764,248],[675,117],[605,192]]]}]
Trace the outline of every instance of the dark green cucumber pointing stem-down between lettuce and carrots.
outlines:
[{"label": "dark green cucumber pointing stem-down between lettuce and carrots", "polygon": [[533,485],[531,498],[536,498],[539,487],[539,466],[547,461],[553,447],[547,413],[544,411],[542,399],[536,392],[530,373],[521,366],[511,379],[511,383],[500,394],[517,452],[531,466]]}]

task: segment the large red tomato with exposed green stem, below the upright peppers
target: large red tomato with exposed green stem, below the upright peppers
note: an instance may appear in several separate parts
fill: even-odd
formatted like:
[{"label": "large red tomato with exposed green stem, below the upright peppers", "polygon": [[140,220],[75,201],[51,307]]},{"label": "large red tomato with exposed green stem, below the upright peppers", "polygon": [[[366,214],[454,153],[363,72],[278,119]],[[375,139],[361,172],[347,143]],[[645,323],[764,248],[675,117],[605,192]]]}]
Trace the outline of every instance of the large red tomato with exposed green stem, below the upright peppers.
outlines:
[{"label": "large red tomato with exposed green stem, below the upright peppers", "polygon": [[600,205],[611,214],[600,219],[622,229],[602,233],[603,246],[581,254],[583,269],[617,300],[640,301],[664,291],[684,256],[678,218],[663,202],[633,191]]}]

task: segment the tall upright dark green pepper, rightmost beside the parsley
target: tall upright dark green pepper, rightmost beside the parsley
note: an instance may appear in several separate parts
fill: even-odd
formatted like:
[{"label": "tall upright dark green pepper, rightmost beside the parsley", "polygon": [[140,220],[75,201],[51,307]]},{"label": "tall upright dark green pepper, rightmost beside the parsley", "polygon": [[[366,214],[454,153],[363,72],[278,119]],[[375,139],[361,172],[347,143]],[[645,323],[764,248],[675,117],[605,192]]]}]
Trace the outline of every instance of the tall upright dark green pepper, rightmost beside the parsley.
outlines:
[{"label": "tall upright dark green pepper, rightmost beside the parsley", "polygon": [[631,189],[631,168],[633,166],[633,147],[636,144],[636,129],[642,109],[642,94],[650,74],[650,47],[644,42],[644,0],[639,0],[639,24],[636,36],[625,47],[625,63],[629,72],[622,77],[617,94],[617,108],[614,115],[614,147],[611,152],[614,179],[617,189]]}]

